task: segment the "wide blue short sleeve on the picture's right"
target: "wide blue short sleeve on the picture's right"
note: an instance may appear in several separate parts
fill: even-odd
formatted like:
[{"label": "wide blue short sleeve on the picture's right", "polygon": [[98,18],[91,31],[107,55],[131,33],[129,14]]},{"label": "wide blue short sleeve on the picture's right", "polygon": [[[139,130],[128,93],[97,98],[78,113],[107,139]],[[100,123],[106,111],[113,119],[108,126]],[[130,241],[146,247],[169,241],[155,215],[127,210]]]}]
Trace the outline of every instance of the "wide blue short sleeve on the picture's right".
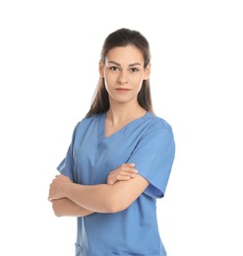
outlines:
[{"label": "wide blue short sleeve on the picture's right", "polygon": [[150,182],[145,194],[153,198],[164,196],[174,156],[172,128],[163,119],[158,119],[143,134],[128,160],[135,163],[139,174]]}]

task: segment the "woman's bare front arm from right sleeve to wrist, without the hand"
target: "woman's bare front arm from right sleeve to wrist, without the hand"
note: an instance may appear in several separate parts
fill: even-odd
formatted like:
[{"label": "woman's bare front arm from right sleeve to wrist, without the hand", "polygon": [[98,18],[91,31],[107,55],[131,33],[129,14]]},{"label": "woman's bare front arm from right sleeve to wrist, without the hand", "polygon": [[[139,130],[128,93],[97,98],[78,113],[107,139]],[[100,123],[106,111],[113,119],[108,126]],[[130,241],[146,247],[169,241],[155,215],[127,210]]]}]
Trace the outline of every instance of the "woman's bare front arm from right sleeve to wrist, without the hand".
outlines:
[{"label": "woman's bare front arm from right sleeve to wrist, without the hand", "polygon": [[97,213],[116,213],[129,207],[149,185],[142,177],[114,185],[80,185],[68,183],[63,187],[63,197]]}]

